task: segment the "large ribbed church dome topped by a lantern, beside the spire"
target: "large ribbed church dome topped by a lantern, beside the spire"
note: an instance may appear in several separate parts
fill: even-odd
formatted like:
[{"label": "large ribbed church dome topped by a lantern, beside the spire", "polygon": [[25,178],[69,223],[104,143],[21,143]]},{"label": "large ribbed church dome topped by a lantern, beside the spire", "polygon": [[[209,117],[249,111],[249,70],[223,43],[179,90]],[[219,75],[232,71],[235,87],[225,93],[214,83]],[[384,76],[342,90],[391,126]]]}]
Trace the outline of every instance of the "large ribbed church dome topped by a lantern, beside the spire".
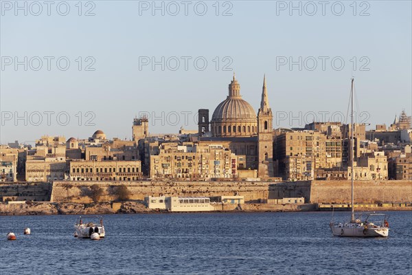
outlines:
[{"label": "large ribbed church dome topped by a lantern, beside the spire", "polygon": [[240,85],[234,74],[229,96],[214,110],[210,125],[215,137],[251,136],[258,130],[255,110],[240,96]]}]

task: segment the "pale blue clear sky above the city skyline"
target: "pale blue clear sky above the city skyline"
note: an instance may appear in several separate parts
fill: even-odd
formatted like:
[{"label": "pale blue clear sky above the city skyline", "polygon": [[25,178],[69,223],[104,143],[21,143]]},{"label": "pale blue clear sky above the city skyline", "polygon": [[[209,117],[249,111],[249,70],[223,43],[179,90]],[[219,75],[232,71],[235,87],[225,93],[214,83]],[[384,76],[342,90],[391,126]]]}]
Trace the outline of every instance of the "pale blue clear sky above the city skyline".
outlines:
[{"label": "pale blue clear sky above the city skyline", "polygon": [[1,1],[0,143],[197,129],[236,73],[274,128],[412,113],[411,1]]}]

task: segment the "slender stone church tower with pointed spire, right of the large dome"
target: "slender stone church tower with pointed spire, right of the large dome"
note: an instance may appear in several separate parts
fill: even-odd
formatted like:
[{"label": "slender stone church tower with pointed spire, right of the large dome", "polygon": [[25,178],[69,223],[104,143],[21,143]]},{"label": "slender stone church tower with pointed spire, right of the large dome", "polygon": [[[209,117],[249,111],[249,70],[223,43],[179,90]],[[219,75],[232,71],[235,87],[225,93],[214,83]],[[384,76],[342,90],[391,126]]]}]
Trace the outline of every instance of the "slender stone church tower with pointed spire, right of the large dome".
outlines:
[{"label": "slender stone church tower with pointed spire, right of the large dome", "polygon": [[263,77],[262,100],[258,111],[258,177],[273,177],[273,114],[269,107],[266,76]]}]

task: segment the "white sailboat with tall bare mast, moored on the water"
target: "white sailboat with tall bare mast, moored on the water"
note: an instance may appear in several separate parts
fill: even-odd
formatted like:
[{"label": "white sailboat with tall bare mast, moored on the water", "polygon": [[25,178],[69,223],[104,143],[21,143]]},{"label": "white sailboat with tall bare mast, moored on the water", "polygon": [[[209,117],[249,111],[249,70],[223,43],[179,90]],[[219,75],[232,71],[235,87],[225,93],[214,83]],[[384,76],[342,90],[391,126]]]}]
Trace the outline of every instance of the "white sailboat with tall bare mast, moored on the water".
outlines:
[{"label": "white sailboat with tall bare mast, moored on the water", "polygon": [[[367,218],[362,221],[360,215],[355,219],[354,213],[354,78],[350,89],[351,96],[351,136],[350,136],[350,151],[351,151],[351,168],[350,175],[352,181],[352,201],[351,201],[351,219],[345,223],[330,222],[330,229],[334,236],[358,236],[358,237],[387,237],[389,235],[389,223],[386,214],[369,214]],[[378,218],[378,219],[376,219]]]}]

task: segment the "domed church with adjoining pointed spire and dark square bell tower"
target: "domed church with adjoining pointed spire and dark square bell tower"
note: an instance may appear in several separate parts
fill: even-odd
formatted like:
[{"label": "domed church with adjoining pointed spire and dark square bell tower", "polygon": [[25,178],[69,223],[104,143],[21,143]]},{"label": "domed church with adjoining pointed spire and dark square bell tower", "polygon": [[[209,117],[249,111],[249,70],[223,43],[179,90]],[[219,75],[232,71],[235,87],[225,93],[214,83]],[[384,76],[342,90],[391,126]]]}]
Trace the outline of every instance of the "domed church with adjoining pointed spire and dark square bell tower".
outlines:
[{"label": "domed church with adjoining pointed spire and dark square bell tower", "polygon": [[246,169],[257,169],[258,177],[273,177],[273,114],[268,102],[266,78],[258,113],[240,95],[233,74],[229,95],[220,102],[209,121],[209,110],[198,111],[200,141],[228,142],[232,153],[246,155]]}]

